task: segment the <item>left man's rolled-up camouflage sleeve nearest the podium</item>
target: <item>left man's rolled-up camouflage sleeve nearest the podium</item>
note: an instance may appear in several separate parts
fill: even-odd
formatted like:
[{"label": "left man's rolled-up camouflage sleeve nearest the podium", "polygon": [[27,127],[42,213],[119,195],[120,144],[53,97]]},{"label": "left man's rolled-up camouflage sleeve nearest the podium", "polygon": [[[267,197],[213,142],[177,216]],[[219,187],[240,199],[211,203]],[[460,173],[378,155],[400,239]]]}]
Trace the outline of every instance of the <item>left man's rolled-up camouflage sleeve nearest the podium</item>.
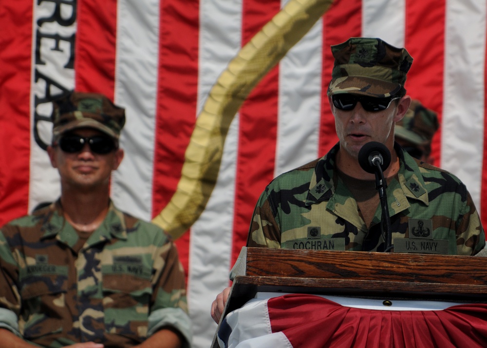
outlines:
[{"label": "left man's rolled-up camouflage sleeve nearest the podium", "polygon": [[185,338],[183,347],[191,347],[185,272],[179,261],[176,246],[171,241],[157,248],[154,270],[148,336],[159,329],[170,327],[179,331]]}]

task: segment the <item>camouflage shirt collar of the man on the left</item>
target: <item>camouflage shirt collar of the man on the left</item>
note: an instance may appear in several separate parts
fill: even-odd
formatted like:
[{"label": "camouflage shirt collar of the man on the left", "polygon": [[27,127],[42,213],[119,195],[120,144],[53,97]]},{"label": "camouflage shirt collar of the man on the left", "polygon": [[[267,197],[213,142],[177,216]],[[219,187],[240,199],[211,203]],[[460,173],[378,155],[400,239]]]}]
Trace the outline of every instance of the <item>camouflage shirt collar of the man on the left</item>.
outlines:
[{"label": "camouflage shirt collar of the man on the left", "polygon": [[[110,200],[109,204],[107,216],[90,236],[90,239],[93,239],[92,237],[95,235],[100,241],[109,240],[112,237],[122,240],[127,239],[127,227],[123,213],[114,206],[112,200]],[[44,231],[42,239],[57,235],[57,239],[69,246],[73,246],[77,240],[77,233],[64,218],[60,198],[43,211],[45,213],[40,215],[40,218],[44,220],[42,223],[42,231]],[[65,226],[65,224],[68,226]]]}]

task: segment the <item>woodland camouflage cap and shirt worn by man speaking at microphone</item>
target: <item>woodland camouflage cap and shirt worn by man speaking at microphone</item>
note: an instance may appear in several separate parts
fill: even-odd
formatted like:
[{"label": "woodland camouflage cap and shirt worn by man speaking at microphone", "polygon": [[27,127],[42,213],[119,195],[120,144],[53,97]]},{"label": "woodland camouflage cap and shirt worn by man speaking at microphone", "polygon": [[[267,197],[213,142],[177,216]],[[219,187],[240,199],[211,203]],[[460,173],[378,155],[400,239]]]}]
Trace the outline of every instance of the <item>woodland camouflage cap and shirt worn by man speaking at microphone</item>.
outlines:
[{"label": "woodland camouflage cap and shirt worn by man speaking at microphone", "polygon": [[[331,49],[335,63],[328,96],[406,94],[404,84],[413,61],[406,49],[377,38],[350,38]],[[281,174],[265,188],[252,217],[247,246],[385,251],[380,204],[367,226],[343,178],[354,185],[354,191],[371,181],[339,174],[338,151],[339,143],[324,157]],[[478,253],[485,235],[465,185],[444,170],[416,161],[397,144],[395,152],[400,168],[388,178],[386,189],[393,251]],[[376,193],[374,187],[372,192]]]}]

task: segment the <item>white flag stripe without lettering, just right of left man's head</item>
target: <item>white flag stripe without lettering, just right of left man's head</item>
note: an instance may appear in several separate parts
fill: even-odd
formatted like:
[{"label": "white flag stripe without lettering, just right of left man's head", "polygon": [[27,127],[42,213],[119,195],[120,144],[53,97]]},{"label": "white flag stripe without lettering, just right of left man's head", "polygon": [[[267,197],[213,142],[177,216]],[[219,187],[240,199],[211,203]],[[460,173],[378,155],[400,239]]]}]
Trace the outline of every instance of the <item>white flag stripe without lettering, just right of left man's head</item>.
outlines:
[{"label": "white flag stripe without lettering, just right of left man's head", "polygon": [[117,3],[116,104],[126,108],[125,157],[112,174],[112,199],[134,216],[152,218],[152,173],[159,63],[159,1]]}]

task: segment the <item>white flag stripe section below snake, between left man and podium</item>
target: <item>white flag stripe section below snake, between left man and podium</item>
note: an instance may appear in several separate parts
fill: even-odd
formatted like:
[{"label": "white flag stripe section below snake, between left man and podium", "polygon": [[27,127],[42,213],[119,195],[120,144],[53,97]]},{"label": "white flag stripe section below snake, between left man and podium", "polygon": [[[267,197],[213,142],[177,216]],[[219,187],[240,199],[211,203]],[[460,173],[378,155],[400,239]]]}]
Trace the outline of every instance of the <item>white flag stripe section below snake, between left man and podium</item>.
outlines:
[{"label": "white flag stripe section below snake, between left man and podium", "polygon": [[206,210],[191,227],[187,289],[193,334],[197,337],[195,347],[210,347],[217,328],[210,317],[210,306],[216,295],[229,284],[238,125],[235,119],[230,126],[216,189],[208,200]]}]

